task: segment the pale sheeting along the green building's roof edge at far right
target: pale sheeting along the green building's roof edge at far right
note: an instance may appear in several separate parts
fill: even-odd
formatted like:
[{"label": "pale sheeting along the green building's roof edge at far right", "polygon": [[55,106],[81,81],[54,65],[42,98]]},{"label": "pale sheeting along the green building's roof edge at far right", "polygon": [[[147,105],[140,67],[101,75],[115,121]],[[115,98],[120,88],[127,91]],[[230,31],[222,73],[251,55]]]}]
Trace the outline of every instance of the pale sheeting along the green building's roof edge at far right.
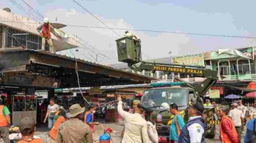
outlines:
[{"label": "pale sheeting along the green building's roof edge at far right", "polygon": [[242,55],[240,53],[235,53],[232,50],[230,51],[230,54],[227,54],[228,52],[219,54],[219,51],[215,51],[210,53],[210,59],[229,59],[233,57],[247,57],[247,59],[254,59],[254,47],[246,47],[237,50],[242,52]]}]

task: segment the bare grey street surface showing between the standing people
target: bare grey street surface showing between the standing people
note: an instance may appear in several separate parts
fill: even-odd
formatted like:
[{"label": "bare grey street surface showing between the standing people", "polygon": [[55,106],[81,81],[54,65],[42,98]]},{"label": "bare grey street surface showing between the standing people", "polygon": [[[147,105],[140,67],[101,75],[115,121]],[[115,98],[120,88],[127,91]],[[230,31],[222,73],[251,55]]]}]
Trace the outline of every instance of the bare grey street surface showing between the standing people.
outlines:
[{"label": "bare grey street surface showing between the standing people", "polygon": [[[95,121],[95,122],[97,122],[97,121]],[[96,140],[99,139],[100,136],[103,134],[103,127],[104,127],[104,129],[107,129],[107,127],[110,127],[113,130],[113,132],[111,133],[111,136],[112,136],[114,143],[121,142],[121,132],[124,127],[124,122],[103,123],[102,125],[95,126],[96,132],[95,132],[94,136],[95,136]],[[245,131],[246,131],[246,128],[245,128]],[[43,143],[48,142],[47,132],[48,132],[47,127],[38,127],[36,129],[36,135],[43,138],[43,141],[44,141]],[[219,127],[216,127],[215,138],[214,139],[206,139],[206,142],[220,143],[219,132],[220,132]],[[242,143],[244,142],[244,137],[245,137],[245,135],[243,134],[242,139],[241,139]]]}]

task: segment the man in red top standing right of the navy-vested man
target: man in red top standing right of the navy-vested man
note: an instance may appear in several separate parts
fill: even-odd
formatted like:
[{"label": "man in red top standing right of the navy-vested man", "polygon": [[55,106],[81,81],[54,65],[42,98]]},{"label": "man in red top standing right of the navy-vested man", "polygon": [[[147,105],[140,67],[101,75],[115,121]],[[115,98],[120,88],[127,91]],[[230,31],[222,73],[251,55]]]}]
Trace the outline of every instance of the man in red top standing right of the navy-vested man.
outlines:
[{"label": "man in red top standing right of the navy-vested man", "polygon": [[220,117],[220,140],[223,143],[238,143],[238,132],[235,130],[233,121],[227,116],[229,109],[225,106],[218,108],[217,114]]}]

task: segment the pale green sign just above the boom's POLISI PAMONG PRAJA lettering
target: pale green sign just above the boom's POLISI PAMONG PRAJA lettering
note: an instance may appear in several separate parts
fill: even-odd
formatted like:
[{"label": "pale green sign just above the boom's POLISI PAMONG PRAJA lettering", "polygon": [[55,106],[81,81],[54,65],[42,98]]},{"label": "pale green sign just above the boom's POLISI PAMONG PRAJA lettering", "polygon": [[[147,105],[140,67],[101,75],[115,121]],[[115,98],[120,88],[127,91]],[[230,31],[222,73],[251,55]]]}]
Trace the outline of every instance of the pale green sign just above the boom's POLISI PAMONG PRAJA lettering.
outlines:
[{"label": "pale green sign just above the boom's POLISI PAMONG PRAJA lettering", "polygon": [[181,57],[172,57],[172,64],[185,64],[191,66],[205,66],[203,54],[186,55]]}]

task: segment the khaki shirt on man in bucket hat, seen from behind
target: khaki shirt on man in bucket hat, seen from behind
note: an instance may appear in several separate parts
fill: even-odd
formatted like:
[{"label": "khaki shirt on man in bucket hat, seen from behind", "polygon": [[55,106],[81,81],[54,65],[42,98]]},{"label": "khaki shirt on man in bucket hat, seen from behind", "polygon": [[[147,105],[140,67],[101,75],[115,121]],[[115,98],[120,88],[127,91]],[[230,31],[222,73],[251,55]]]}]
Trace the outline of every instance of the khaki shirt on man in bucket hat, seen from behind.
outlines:
[{"label": "khaki shirt on man in bucket hat, seen from behind", "polygon": [[78,118],[71,118],[58,127],[56,143],[92,143],[89,125]]}]

